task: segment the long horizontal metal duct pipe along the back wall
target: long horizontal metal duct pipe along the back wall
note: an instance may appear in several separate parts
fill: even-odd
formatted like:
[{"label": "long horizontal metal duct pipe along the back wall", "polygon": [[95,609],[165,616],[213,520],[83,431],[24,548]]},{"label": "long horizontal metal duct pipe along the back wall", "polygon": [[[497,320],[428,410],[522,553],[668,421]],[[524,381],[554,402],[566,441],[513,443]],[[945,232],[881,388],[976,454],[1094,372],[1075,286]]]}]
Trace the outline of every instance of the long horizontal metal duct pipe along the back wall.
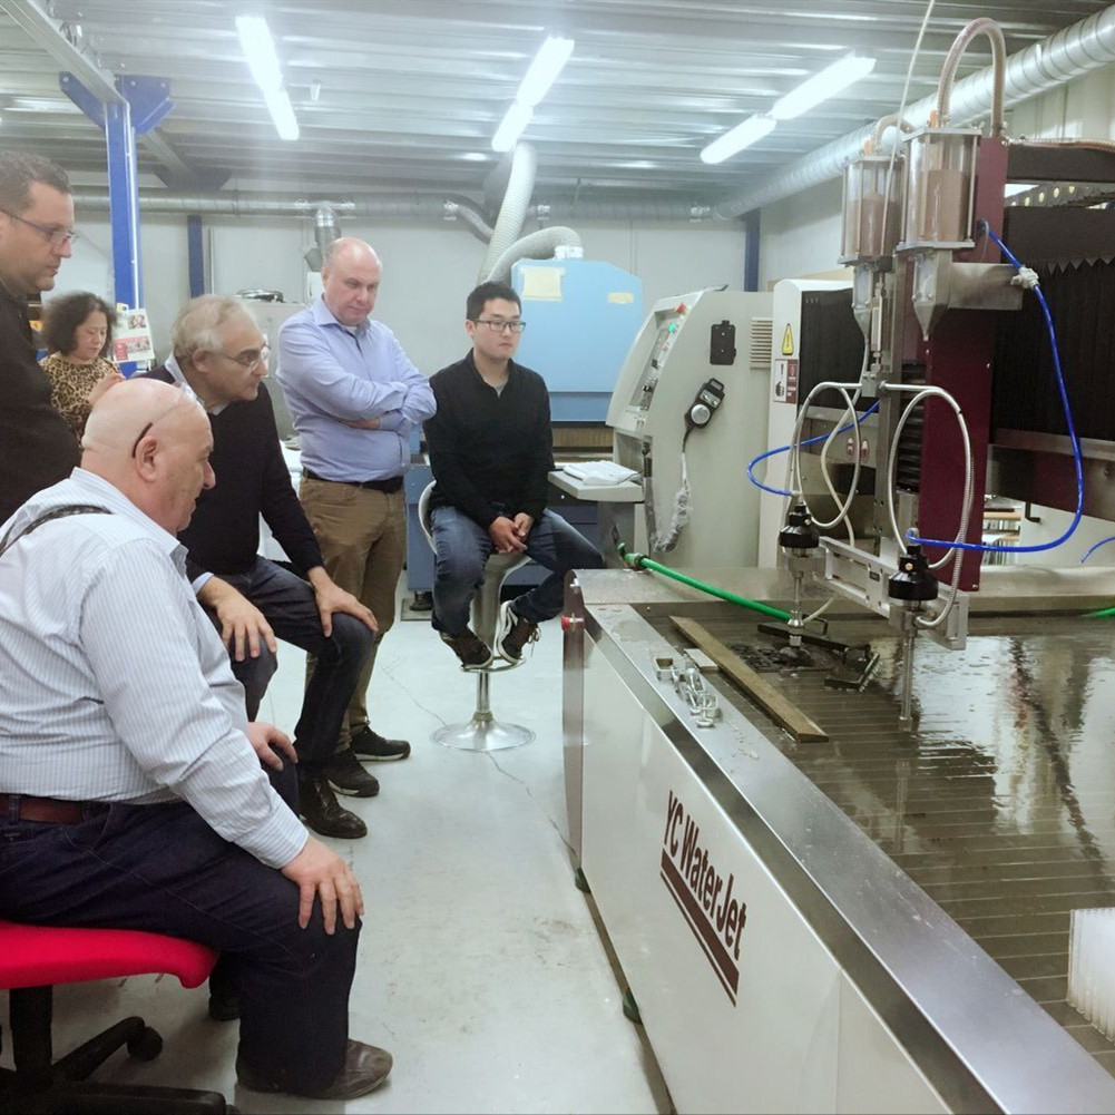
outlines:
[{"label": "long horizontal metal duct pipe along the back wall", "polygon": [[[107,210],[108,191],[77,186],[74,197],[83,210]],[[210,216],[304,216],[312,217],[319,206],[328,205],[334,214],[346,219],[396,217],[418,221],[460,220],[478,240],[488,243],[492,227],[484,221],[479,206],[472,198],[459,194],[367,194],[360,197],[330,201],[310,201],[297,194],[272,192],[235,192],[213,194],[177,194],[167,190],[139,191],[139,207],[144,213],[201,213]],[[541,206],[532,205],[527,216],[534,216]],[[652,197],[622,200],[578,198],[552,201],[546,205],[551,220],[569,221],[709,221],[712,211],[707,205],[685,201],[656,201]]]}]

